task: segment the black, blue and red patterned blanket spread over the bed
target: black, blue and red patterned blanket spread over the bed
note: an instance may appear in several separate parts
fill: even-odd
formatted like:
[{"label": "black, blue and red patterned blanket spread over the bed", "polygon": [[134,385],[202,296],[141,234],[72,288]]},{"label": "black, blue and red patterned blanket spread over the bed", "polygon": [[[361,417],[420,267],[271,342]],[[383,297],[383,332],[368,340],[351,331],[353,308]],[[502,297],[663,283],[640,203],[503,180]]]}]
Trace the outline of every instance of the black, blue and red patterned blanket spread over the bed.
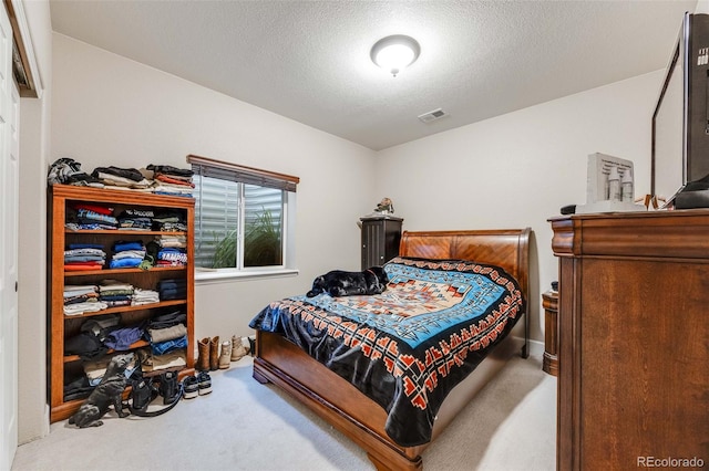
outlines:
[{"label": "black, blue and red patterned blanket spread over the bed", "polygon": [[525,312],[517,282],[497,266],[397,258],[373,296],[288,297],[249,326],[280,333],[388,412],[403,447],[427,443],[438,410]]}]

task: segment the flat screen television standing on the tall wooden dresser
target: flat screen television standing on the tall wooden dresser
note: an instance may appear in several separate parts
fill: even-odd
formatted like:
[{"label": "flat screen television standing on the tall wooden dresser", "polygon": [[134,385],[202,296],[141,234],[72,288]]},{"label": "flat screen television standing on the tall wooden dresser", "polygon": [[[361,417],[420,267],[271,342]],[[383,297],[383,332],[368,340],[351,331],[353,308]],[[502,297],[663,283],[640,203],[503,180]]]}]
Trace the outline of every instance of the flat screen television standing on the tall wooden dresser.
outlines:
[{"label": "flat screen television standing on the tall wooden dresser", "polygon": [[709,175],[709,14],[685,13],[653,114],[650,192],[670,205]]}]

